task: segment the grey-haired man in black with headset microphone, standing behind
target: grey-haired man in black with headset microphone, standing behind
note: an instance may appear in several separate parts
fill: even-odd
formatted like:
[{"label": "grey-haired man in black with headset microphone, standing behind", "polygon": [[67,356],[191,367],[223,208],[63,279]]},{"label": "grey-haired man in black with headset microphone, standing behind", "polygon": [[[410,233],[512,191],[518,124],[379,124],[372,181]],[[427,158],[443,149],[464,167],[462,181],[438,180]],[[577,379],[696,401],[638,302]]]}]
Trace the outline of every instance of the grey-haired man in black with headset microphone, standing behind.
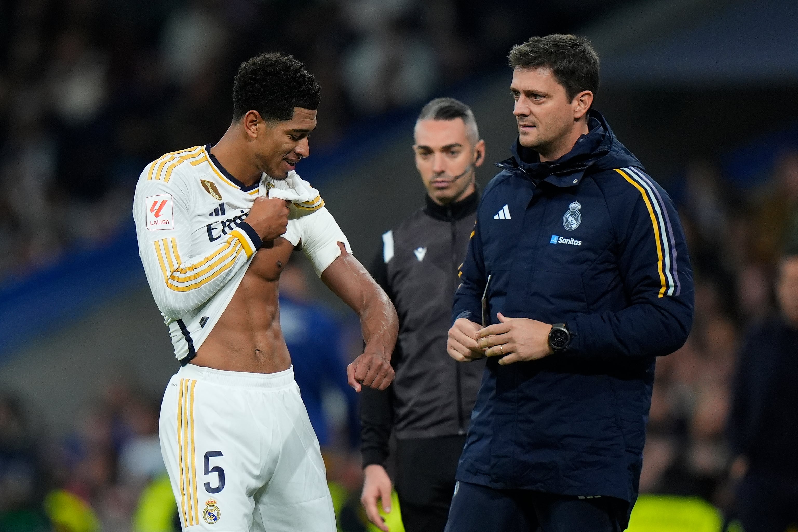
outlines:
[{"label": "grey-haired man in black with headset microphone, standing behind", "polygon": [[473,112],[453,98],[421,109],[413,132],[416,167],[427,189],[425,207],[382,235],[369,272],[399,314],[391,363],[393,384],[363,390],[361,502],[371,522],[388,530],[377,499],[390,510],[385,472],[389,438],[396,435],[396,490],[408,532],[442,532],[455,471],[484,363],[462,365],[446,354],[452,299],[474,227],[479,194],[475,168],[484,160]]}]

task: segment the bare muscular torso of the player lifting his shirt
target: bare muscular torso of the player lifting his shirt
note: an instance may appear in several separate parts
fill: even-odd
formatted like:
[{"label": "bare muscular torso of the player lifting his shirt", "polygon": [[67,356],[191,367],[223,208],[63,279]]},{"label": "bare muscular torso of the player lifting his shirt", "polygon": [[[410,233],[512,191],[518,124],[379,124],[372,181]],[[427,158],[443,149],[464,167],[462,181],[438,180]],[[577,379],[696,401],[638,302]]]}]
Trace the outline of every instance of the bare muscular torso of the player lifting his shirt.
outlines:
[{"label": "bare muscular torso of the player lifting his shirt", "polygon": [[280,329],[278,289],[280,274],[293,250],[282,237],[263,242],[192,364],[251,373],[290,368]]}]

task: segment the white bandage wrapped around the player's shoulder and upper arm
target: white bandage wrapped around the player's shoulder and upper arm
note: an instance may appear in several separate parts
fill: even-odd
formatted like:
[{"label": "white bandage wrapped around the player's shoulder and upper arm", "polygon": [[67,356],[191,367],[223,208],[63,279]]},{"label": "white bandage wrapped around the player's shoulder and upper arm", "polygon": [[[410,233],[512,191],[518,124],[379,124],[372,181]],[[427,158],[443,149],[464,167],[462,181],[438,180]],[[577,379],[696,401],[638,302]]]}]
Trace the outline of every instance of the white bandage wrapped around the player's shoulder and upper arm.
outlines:
[{"label": "white bandage wrapped around the player's shoulder and upper arm", "polygon": [[[338,223],[326,207],[302,215],[296,219],[296,222],[300,225],[298,232],[302,239],[302,250],[310,262],[313,262],[316,275],[319,277],[341,254],[338,242],[342,242],[346,250],[352,253],[346,234],[341,231],[341,227],[338,227]],[[292,243],[296,245],[295,242]]]}]

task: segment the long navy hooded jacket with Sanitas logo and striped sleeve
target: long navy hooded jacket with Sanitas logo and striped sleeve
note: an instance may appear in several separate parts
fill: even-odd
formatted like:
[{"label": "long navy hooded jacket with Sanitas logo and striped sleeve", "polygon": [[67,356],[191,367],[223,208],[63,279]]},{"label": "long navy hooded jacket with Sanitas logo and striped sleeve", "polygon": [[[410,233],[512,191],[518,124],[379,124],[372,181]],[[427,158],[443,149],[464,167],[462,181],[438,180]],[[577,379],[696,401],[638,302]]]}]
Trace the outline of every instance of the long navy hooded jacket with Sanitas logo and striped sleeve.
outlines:
[{"label": "long navy hooded jacket with Sanitas logo and striped sleeve", "polygon": [[452,318],[566,323],[539,361],[490,357],[457,479],[634,505],[654,357],[684,344],[693,275],[670,197],[591,111],[558,160],[518,142],[482,196]]}]

